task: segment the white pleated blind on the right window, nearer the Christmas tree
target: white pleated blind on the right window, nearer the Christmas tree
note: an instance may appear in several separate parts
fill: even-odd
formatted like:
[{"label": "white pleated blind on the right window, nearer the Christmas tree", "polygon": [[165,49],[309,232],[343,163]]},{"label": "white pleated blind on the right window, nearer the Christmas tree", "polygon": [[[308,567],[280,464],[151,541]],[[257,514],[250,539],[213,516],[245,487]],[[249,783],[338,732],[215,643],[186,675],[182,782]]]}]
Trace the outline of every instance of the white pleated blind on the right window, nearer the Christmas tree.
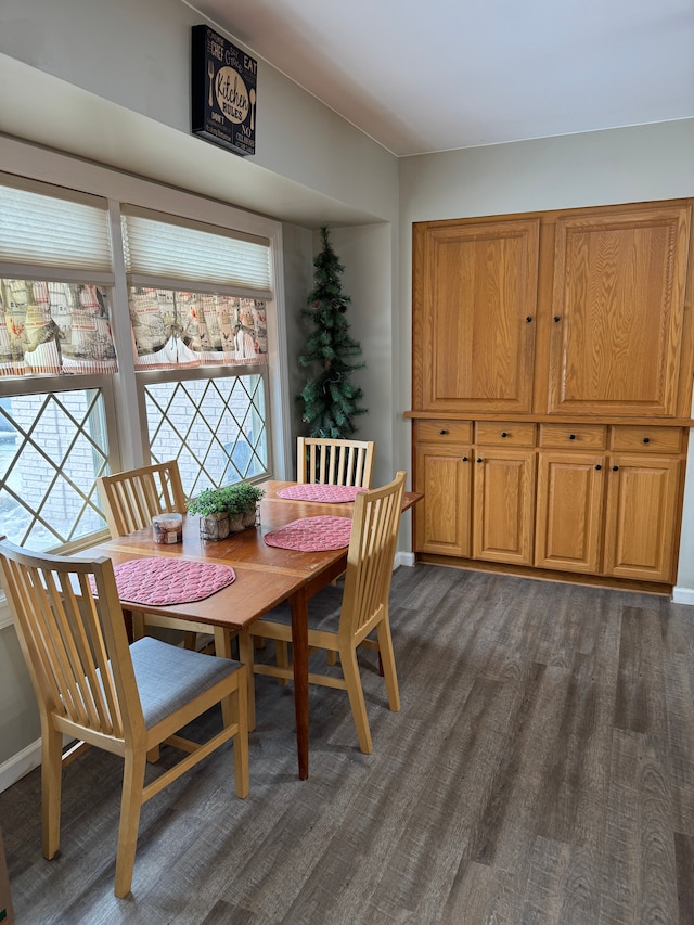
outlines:
[{"label": "white pleated blind on the right window, nearer the Christmas tree", "polygon": [[123,241],[128,282],[229,295],[272,297],[270,246],[254,237],[174,217],[153,218],[124,207]]}]

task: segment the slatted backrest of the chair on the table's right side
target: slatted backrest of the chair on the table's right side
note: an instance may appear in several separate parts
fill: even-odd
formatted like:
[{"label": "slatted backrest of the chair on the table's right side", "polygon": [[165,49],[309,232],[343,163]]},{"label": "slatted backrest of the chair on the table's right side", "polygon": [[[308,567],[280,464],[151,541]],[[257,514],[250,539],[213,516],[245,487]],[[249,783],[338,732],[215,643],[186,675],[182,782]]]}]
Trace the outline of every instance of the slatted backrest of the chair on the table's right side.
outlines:
[{"label": "slatted backrest of the chair on the table's right side", "polygon": [[388,606],[406,473],[357,496],[339,632],[355,635]]}]

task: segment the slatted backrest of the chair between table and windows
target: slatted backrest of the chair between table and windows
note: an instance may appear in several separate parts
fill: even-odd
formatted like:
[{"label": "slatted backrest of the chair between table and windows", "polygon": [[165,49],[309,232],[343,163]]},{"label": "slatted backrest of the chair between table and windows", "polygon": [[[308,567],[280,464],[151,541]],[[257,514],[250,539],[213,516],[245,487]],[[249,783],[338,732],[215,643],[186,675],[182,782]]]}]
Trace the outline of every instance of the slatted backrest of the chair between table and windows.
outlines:
[{"label": "slatted backrest of the chair between table and windows", "polygon": [[176,460],[104,475],[97,484],[112,537],[147,527],[155,514],[185,512],[185,494]]}]

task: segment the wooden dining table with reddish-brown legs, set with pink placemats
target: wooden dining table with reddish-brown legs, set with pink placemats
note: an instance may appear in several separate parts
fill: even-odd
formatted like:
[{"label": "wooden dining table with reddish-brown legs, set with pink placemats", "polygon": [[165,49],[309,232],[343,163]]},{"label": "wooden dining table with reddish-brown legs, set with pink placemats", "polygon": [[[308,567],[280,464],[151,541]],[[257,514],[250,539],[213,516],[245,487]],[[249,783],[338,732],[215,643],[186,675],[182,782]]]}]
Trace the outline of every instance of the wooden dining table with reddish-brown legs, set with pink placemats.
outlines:
[{"label": "wooden dining table with reddish-brown legs, set with pink placemats", "polygon": [[[281,602],[288,602],[298,770],[299,778],[306,780],[309,770],[308,602],[345,570],[348,548],[300,552],[268,545],[265,537],[305,517],[350,517],[354,503],[326,504],[278,497],[278,491],[292,485],[295,483],[271,480],[260,484],[266,492],[260,502],[260,524],[227,539],[210,541],[201,538],[200,517],[187,514],[180,543],[156,543],[152,528],[146,527],[105,540],[87,553],[107,555],[114,566],[133,558],[158,556],[231,566],[235,573],[233,583],[200,601],[143,606],[136,601],[121,600],[127,609],[145,609],[208,626],[215,638],[216,654],[227,658],[231,657],[232,633],[259,619]],[[415,492],[406,492],[403,511],[420,498]]]}]

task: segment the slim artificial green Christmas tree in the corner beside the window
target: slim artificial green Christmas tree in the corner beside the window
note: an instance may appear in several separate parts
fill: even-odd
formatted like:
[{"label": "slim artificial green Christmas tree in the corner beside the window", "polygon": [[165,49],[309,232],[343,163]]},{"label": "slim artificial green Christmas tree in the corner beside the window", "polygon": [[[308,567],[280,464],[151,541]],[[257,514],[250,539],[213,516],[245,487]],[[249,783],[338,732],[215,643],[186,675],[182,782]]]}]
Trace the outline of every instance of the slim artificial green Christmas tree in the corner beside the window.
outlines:
[{"label": "slim artificial green Christmas tree in the corner beside the window", "polygon": [[[365,363],[349,362],[361,356],[361,345],[349,336],[347,307],[351,299],[342,290],[345,269],[330,243],[327,228],[321,228],[322,250],[313,260],[313,291],[301,311],[313,325],[299,363],[309,378],[298,396],[304,402],[301,420],[310,437],[345,439],[357,429],[354,419],[365,414],[359,407],[363,390],[351,382]],[[312,373],[312,375],[311,375]]]}]

